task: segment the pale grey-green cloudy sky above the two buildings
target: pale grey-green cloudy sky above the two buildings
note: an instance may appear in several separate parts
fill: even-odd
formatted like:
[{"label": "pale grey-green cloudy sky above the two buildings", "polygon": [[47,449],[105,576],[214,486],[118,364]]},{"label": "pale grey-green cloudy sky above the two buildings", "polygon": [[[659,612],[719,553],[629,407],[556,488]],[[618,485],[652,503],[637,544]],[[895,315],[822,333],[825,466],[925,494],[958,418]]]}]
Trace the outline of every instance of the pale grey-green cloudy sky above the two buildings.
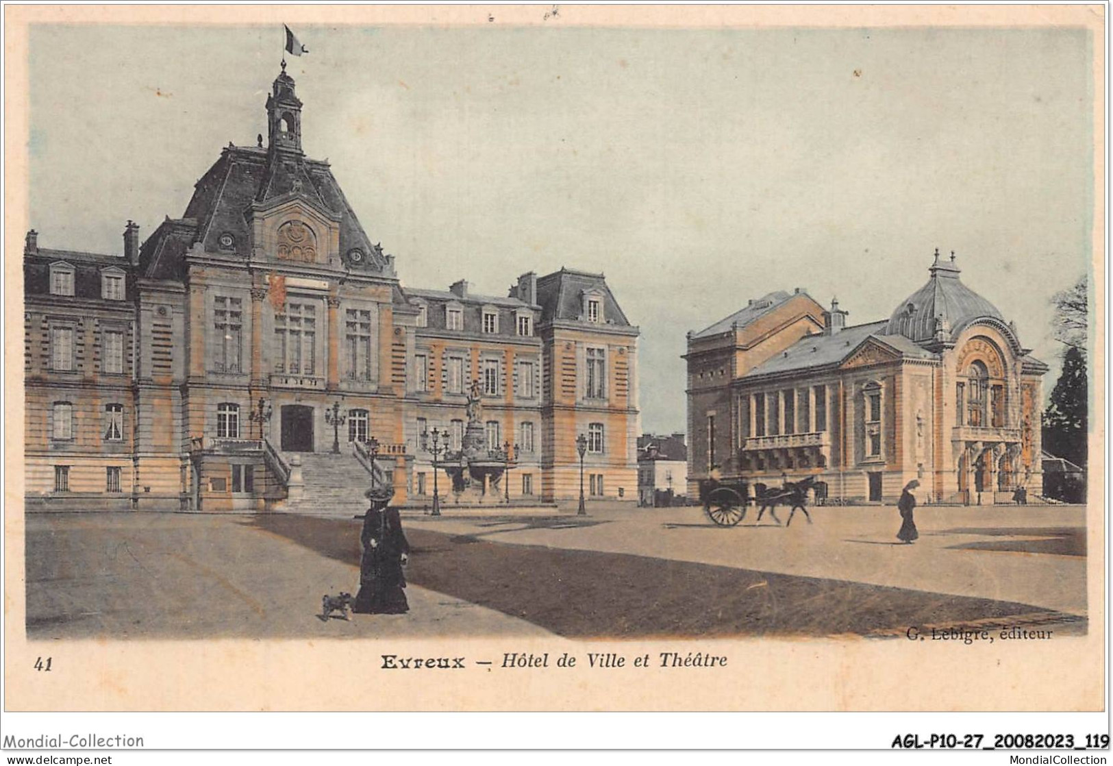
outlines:
[{"label": "pale grey-green cloudy sky above the two buildings", "polygon": [[[936,247],[1058,373],[1051,296],[1086,273],[1090,38],[1078,29],[328,27],[287,57],[404,286],[603,272],[639,341],[642,429],[683,431],[684,334],[774,289],[885,318]],[[119,253],[266,134],[283,32],[39,26],[27,227]]]}]

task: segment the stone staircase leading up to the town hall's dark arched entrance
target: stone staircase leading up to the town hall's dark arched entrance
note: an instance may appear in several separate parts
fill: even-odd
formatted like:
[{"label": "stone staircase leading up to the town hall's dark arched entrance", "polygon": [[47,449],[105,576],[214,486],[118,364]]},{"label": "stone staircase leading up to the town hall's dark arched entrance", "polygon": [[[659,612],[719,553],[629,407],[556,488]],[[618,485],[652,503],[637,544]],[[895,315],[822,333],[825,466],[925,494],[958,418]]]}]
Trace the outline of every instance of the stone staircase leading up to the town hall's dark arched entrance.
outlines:
[{"label": "stone staircase leading up to the town hall's dark arched entrance", "polygon": [[305,489],[298,500],[287,500],[275,508],[286,513],[352,518],[367,510],[363,493],[371,487],[371,473],[351,451],[284,452],[288,463],[294,455],[302,461]]}]

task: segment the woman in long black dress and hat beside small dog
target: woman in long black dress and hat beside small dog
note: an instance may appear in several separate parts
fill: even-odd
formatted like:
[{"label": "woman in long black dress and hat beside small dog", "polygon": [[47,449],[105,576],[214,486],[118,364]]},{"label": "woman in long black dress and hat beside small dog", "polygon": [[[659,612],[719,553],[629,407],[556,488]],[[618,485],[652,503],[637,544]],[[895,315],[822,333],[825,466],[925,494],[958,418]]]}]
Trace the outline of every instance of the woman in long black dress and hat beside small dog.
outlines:
[{"label": "woman in long black dress and hat beside small dog", "polygon": [[357,615],[402,615],[410,611],[403,564],[410,559],[410,543],[402,532],[398,509],[388,505],[393,492],[372,488],[366,497],[371,508],[363,517],[363,557],[359,560],[359,592],[352,611]]}]

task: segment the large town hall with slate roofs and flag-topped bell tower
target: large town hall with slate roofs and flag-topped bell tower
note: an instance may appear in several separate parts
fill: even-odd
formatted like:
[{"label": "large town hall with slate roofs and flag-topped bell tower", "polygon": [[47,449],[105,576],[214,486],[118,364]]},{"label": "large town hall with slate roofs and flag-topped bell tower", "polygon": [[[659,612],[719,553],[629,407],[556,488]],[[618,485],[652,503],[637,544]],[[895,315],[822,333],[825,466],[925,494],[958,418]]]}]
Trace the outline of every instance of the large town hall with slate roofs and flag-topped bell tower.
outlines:
[{"label": "large town hall with slate roofs and flag-topped bell tower", "polygon": [[603,276],[526,273],[505,297],[403,286],[305,156],[302,106],[284,70],[266,139],[224,148],[141,244],[128,222],[122,255],[28,233],[29,508],[363,507],[373,453],[395,502],[424,504],[423,434],[451,455],[479,410],[484,456],[512,448],[479,501],[575,497],[581,433],[589,497],[633,501],[638,328]]}]

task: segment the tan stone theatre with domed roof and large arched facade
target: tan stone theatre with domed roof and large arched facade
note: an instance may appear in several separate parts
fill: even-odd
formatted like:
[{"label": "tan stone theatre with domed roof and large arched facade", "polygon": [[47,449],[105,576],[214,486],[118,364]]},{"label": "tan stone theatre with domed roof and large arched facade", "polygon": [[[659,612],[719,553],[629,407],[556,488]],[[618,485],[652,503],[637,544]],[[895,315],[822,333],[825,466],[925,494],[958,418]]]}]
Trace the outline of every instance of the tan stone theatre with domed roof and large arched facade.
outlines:
[{"label": "tan stone theatre with domed roof and large arched facade", "polygon": [[712,475],[814,475],[836,502],[930,502],[1043,490],[1047,366],[959,278],[954,255],[887,320],[847,325],[807,291],[775,292],[688,334],[689,493]]}]

